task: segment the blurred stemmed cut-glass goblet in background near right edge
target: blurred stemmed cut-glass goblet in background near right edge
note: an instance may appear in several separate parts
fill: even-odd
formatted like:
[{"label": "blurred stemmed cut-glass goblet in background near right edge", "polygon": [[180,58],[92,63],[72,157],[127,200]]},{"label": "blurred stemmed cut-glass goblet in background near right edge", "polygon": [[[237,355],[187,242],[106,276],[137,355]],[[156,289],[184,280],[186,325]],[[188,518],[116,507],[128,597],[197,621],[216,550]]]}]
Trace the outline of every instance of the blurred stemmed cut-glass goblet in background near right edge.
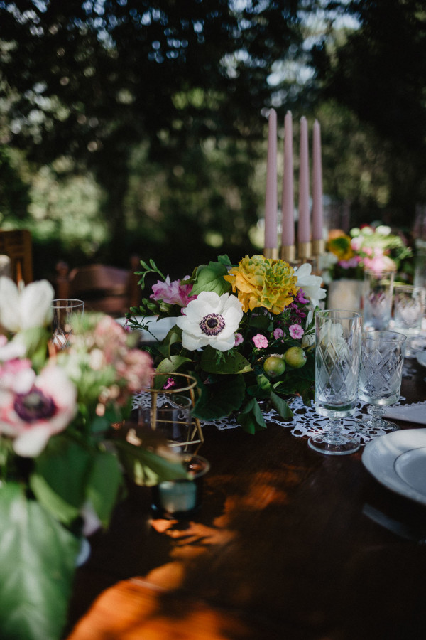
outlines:
[{"label": "blurred stemmed cut-glass goblet in background near right edge", "polygon": [[413,338],[420,334],[423,314],[425,313],[426,289],[405,285],[395,287],[393,320],[395,331],[400,331],[408,337],[405,355],[412,358],[415,355],[415,341]]}]

